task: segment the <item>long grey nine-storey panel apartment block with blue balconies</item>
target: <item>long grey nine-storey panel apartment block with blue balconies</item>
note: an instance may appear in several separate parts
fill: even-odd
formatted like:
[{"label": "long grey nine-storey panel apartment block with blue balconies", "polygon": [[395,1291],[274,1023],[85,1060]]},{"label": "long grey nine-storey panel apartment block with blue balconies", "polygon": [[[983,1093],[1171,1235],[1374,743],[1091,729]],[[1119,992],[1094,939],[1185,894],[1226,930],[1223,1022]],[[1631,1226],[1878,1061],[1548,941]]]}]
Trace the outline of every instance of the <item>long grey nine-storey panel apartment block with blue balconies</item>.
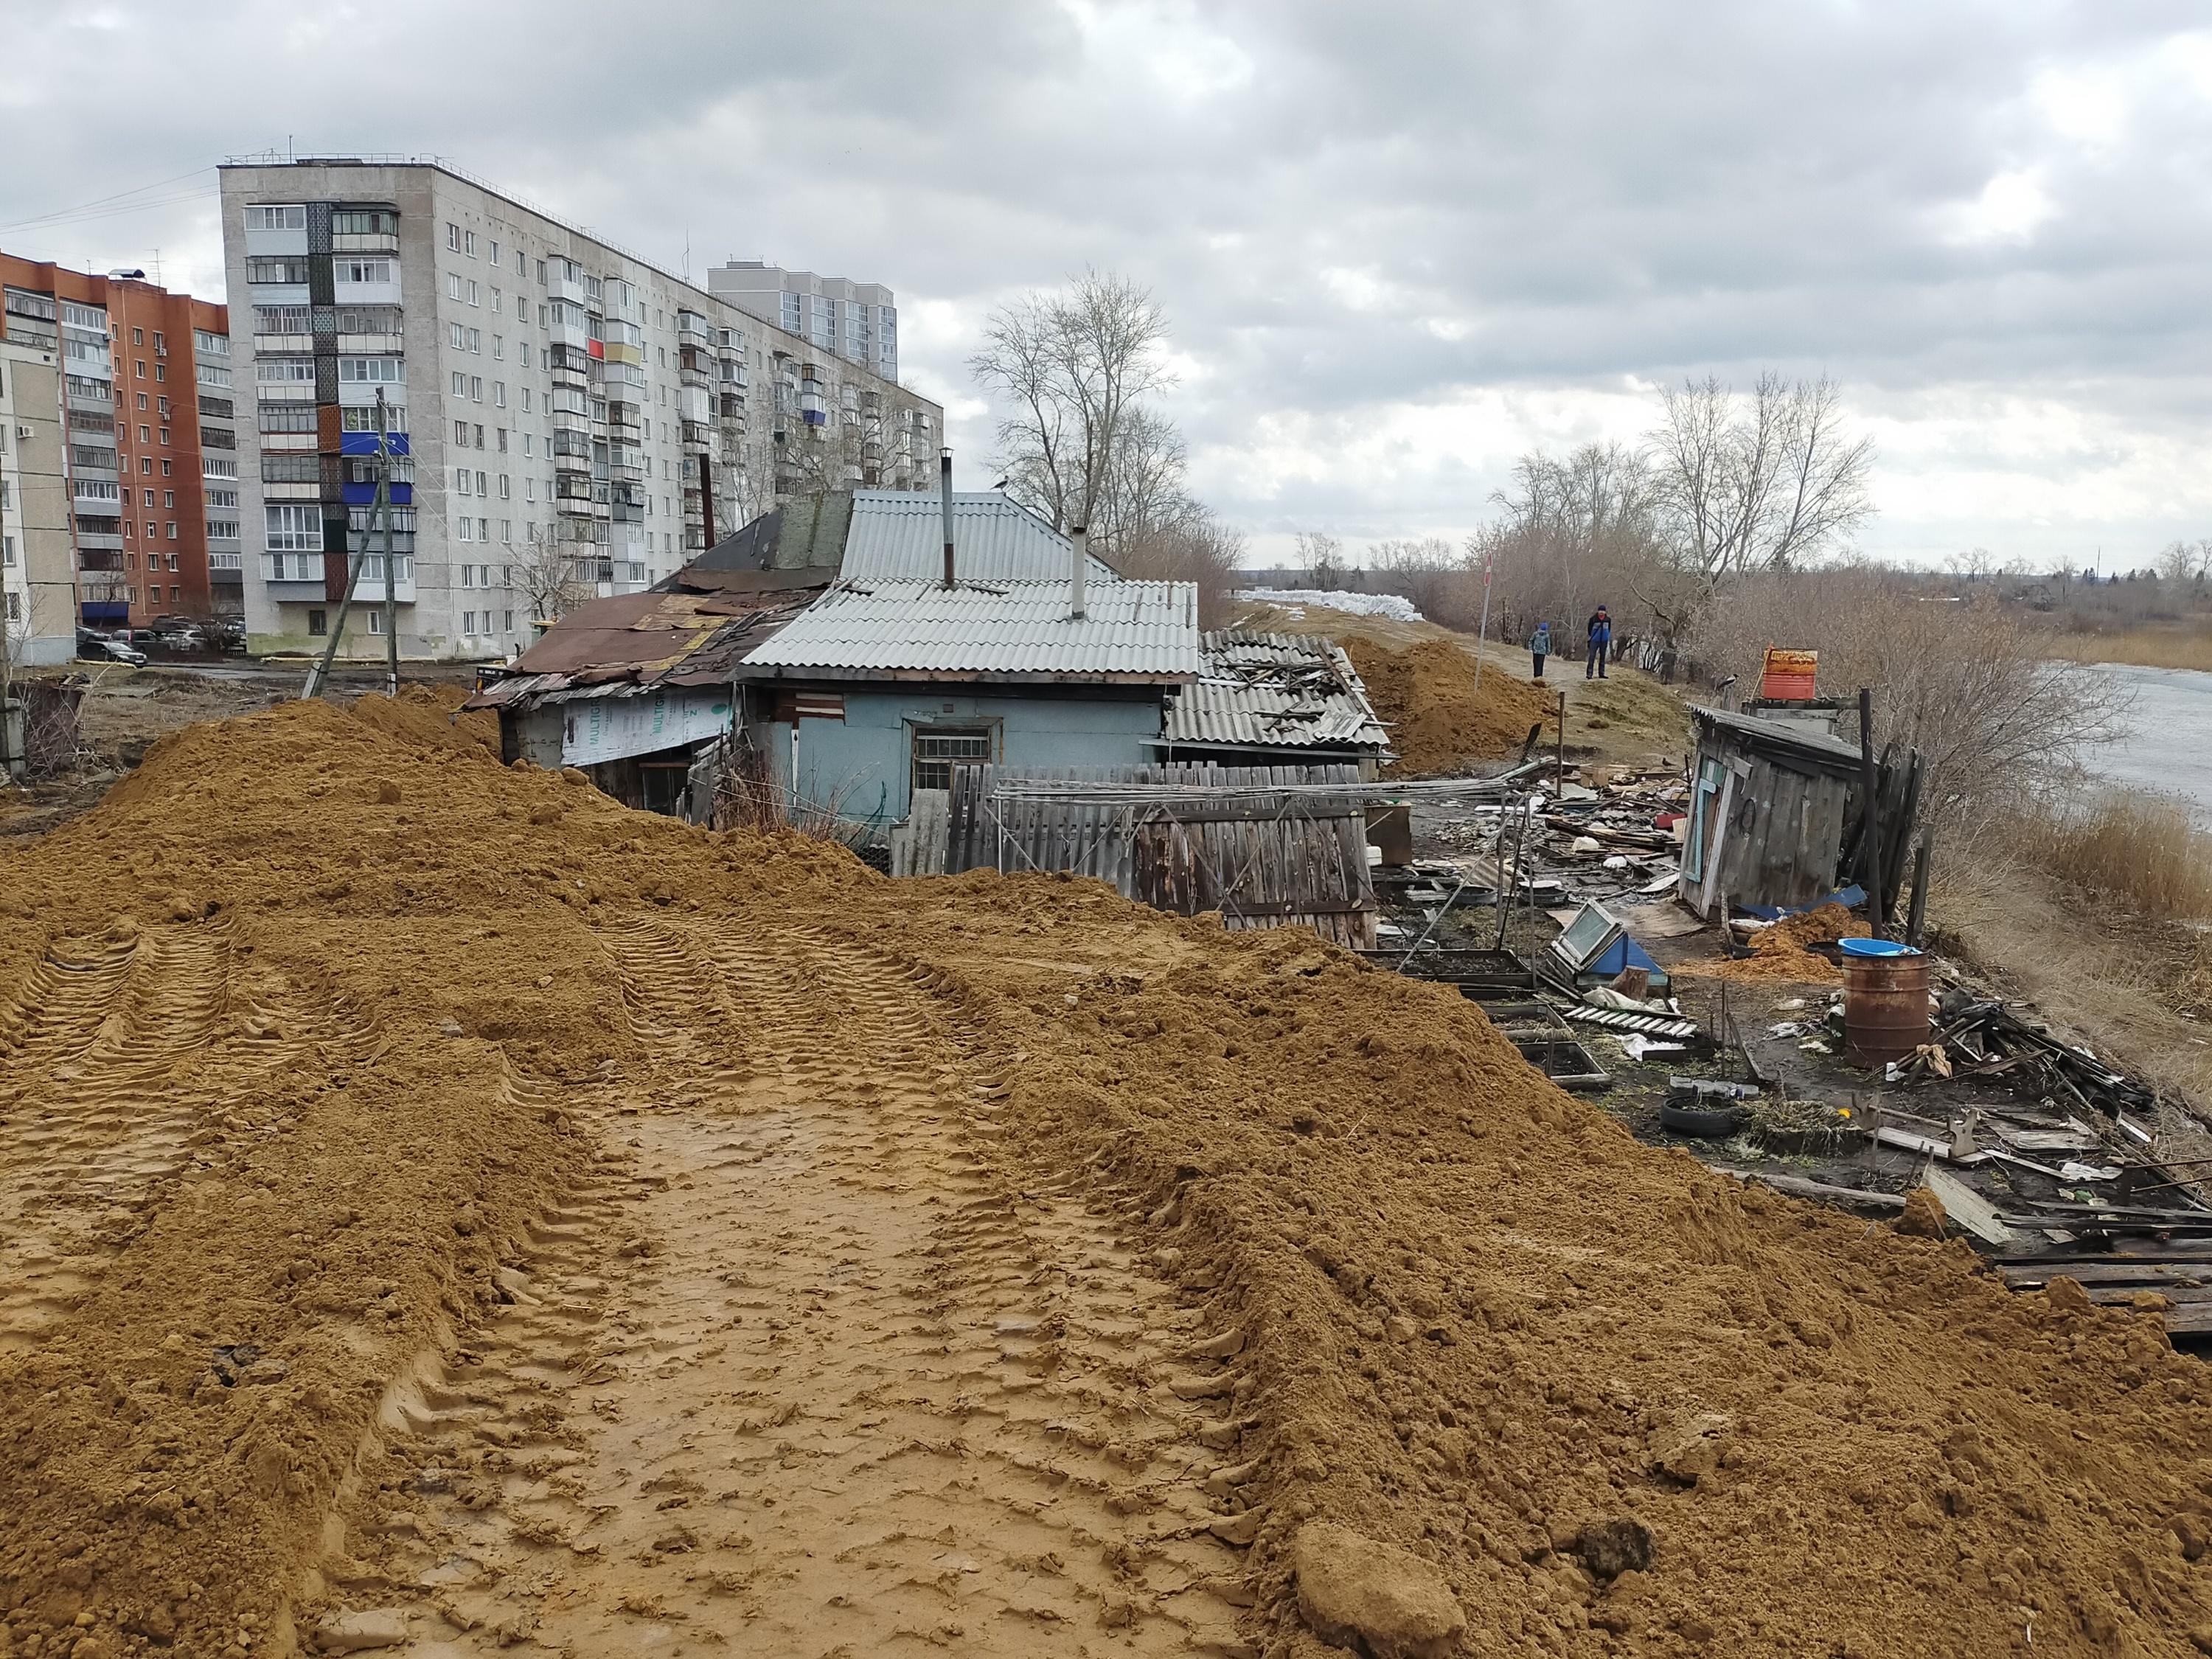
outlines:
[{"label": "long grey nine-storey panel apartment block with blue balconies", "polygon": [[254,653],[383,655],[378,396],[407,657],[487,659],[779,500],[929,489],[942,409],[438,161],[221,170]]}]

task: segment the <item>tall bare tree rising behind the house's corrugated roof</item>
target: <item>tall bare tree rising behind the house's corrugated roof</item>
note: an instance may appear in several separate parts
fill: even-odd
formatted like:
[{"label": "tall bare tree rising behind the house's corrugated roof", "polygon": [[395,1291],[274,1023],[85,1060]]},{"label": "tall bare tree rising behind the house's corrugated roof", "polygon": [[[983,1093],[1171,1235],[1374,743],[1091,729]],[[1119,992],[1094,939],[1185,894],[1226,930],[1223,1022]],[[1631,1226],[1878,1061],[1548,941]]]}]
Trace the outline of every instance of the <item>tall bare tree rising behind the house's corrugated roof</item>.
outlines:
[{"label": "tall bare tree rising behind the house's corrugated roof", "polygon": [[[1179,484],[1181,438],[1168,462],[1157,447],[1175,429],[1144,411],[1148,394],[1172,385],[1166,338],[1150,292],[1097,270],[1060,294],[1022,294],[991,312],[969,372],[1011,405],[998,422],[998,465],[1015,500],[1055,529],[1088,526],[1110,549],[1126,533],[1113,515],[1135,478],[1172,465]],[[1155,453],[1124,453],[1146,447]]]}]

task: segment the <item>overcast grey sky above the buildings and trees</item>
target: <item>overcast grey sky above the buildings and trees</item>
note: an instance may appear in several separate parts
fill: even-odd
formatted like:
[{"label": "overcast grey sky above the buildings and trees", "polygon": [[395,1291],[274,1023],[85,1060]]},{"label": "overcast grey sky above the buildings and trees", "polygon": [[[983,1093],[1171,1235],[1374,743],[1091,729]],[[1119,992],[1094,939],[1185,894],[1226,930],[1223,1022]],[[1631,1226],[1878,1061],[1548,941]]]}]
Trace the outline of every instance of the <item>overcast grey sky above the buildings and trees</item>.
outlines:
[{"label": "overcast grey sky above the buildings and trees", "polygon": [[7,38],[9,252],[219,296],[223,155],[436,153],[695,276],[889,283],[964,482],[989,307],[1133,276],[1259,557],[1458,538],[1515,453],[1763,365],[1845,385],[1878,555],[2212,535],[2203,0],[7,0]]}]

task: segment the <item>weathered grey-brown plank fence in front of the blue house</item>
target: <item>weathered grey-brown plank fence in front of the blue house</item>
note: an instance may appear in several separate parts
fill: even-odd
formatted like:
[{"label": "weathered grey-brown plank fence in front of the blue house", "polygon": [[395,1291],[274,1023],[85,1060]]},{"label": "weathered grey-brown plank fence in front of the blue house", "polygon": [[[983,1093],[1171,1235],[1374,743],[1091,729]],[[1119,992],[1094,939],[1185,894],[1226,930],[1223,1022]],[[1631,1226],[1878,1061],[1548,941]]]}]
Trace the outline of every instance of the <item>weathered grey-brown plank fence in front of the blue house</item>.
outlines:
[{"label": "weathered grey-brown plank fence in front of the blue house", "polygon": [[1066,869],[1113,883],[1126,898],[1177,916],[1221,911],[1225,927],[1312,927],[1352,949],[1374,949],[1376,902],[1367,872],[1367,810],[1356,799],[1194,799],[1102,805],[1082,799],[995,801],[1002,779],[1044,783],[1358,783],[1358,765],[1121,765],[953,774],[945,874]]}]

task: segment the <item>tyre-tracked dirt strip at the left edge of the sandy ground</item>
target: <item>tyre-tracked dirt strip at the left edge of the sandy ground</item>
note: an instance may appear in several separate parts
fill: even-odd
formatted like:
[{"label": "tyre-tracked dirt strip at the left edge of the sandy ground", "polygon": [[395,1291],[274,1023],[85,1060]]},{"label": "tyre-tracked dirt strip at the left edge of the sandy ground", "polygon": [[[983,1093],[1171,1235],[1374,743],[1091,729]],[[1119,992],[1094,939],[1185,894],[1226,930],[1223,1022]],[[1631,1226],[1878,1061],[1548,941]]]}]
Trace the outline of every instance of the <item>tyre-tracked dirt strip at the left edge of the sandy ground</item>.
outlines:
[{"label": "tyre-tracked dirt strip at the left edge of the sandy ground", "polygon": [[263,1006],[232,973],[226,922],[60,940],[0,1009],[0,1349],[69,1316],[257,1082],[361,1046],[345,1011]]}]

